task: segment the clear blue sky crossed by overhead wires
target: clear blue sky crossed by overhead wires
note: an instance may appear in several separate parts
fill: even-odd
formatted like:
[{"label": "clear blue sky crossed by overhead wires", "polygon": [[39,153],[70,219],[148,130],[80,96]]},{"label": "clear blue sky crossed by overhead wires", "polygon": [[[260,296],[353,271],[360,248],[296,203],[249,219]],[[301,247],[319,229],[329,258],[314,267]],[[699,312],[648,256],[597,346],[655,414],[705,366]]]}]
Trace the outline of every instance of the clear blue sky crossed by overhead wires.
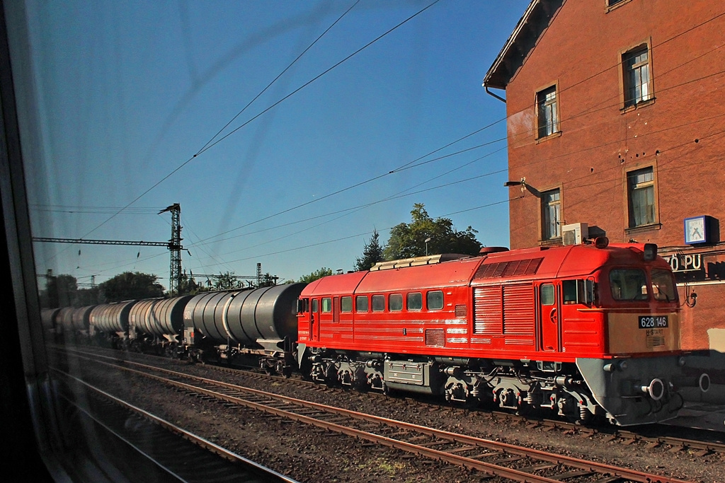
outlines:
[{"label": "clear blue sky crossed by overhead wires", "polygon": [[[233,133],[431,1],[29,3],[33,235],[165,241],[156,213],[180,203],[187,271],[260,262],[290,280],[352,269],[373,229],[386,241],[424,203],[508,245],[505,105],[481,80],[529,1],[439,1]],[[164,248],[42,243],[36,261],[79,282],[168,284]]]}]

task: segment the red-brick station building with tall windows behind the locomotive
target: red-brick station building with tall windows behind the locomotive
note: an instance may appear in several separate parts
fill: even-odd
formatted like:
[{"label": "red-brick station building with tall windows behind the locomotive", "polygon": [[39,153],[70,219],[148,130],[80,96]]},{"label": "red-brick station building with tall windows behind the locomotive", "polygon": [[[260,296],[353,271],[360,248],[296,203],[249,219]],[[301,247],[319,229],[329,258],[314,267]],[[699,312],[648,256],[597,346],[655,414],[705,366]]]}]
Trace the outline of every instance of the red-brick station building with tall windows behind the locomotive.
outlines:
[{"label": "red-brick station building with tall windows behind the locomotive", "polygon": [[657,243],[682,347],[725,352],[725,4],[532,0],[484,87],[505,90],[512,248]]}]

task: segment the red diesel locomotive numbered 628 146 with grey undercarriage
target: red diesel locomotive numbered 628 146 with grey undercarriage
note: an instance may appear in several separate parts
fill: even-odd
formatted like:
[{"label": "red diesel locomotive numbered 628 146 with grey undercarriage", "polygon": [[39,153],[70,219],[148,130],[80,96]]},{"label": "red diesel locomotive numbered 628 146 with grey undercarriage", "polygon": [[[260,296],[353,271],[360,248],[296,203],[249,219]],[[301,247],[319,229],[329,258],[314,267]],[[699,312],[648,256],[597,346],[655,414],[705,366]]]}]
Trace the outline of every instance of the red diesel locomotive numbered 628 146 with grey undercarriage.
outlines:
[{"label": "red diesel locomotive numbered 628 146 with grey undercarriage", "polygon": [[[653,244],[437,255],[307,285],[299,366],[327,384],[550,408],[614,424],[682,406],[679,298]],[[485,253],[484,253],[485,252]]]}]

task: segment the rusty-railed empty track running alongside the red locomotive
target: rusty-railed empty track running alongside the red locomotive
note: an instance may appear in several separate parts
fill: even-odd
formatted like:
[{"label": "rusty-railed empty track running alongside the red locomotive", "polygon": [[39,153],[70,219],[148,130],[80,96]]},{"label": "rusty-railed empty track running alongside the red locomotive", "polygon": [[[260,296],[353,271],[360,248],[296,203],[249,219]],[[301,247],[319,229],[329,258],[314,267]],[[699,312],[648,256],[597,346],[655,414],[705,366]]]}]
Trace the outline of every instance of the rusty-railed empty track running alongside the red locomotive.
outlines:
[{"label": "rusty-railed empty track running alongside the red locomotive", "polygon": [[270,392],[182,374],[132,361],[107,362],[102,356],[83,356],[154,379],[199,398],[244,406],[278,418],[299,421],[326,431],[346,434],[370,445],[384,445],[407,453],[445,461],[466,469],[520,482],[683,482],[668,476],[619,468],[523,448],[465,434],[422,427],[403,421],[370,416],[343,408],[311,403]]}]

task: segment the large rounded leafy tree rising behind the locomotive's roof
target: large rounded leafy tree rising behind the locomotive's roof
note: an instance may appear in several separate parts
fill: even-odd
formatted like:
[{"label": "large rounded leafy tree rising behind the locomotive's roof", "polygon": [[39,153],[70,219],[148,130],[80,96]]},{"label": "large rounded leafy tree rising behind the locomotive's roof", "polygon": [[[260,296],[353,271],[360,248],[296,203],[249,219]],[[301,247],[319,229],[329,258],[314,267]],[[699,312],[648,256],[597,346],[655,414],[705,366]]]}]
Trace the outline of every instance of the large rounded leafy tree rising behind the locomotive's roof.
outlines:
[{"label": "large rounded leafy tree rising behind the locomotive's roof", "polygon": [[400,223],[390,230],[388,245],[383,251],[386,260],[409,259],[426,254],[463,253],[476,255],[481,243],[476,230],[468,227],[457,231],[450,218],[432,219],[423,203],[415,203],[410,211],[411,222]]}]

